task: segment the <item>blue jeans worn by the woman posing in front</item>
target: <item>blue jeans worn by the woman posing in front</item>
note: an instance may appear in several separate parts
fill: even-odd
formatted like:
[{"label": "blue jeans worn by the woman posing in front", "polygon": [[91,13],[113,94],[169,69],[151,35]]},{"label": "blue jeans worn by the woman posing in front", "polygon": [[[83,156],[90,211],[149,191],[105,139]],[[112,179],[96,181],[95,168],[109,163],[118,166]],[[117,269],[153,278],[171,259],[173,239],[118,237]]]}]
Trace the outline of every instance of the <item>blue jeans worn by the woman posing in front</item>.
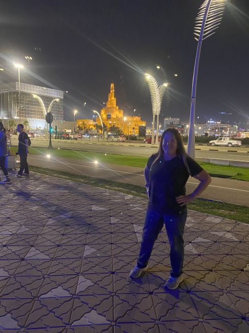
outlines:
[{"label": "blue jeans worn by the woman posing in front", "polygon": [[183,273],[184,262],[184,227],[187,218],[187,210],[181,213],[166,214],[149,209],[145,217],[143,238],[140,247],[138,266],[147,266],[154,243],[162,230],[164,223],[170,243],[170,263],[172,277],[179,277]]}]

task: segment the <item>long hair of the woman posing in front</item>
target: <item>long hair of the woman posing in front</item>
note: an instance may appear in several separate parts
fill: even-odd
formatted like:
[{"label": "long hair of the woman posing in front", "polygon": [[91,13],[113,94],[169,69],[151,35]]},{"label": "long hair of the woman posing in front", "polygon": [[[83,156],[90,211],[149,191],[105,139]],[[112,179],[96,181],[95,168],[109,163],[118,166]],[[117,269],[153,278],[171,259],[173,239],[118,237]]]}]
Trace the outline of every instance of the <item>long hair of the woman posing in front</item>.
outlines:
[{"label": "long hair of the woman posing in front", "polygon": [[161,137],[161,140],[160,140],[160,143],[159,143],[159,150],[155,153],[156,158],[153,161],[152,165],[157,160],[159,160],[160,158],[162,158],[163,155],[164,155],[163,139],[164,139],[164,136],[165,136],[166,133],[171,133],[171,134],[173,134],[175,136],[175,139],[176,139],[176,142],[177,142],[176,155],[182,158],[182,160],[183,160],[183,162],[184,162],[184,164],[186,166],[186,169],[188,170],[188,173],[190,174],[189,166],[188,166],[187,159],[186,159],[187,157],[189,157],[189,155],[187,154],[187,152],[186,152],[186,150],[184,148],[183,140],[182,140],[182,137],[180,136],[180,133],[176,129],[174,129],[174,128],[168,128],[162,134],[162,137]]}]

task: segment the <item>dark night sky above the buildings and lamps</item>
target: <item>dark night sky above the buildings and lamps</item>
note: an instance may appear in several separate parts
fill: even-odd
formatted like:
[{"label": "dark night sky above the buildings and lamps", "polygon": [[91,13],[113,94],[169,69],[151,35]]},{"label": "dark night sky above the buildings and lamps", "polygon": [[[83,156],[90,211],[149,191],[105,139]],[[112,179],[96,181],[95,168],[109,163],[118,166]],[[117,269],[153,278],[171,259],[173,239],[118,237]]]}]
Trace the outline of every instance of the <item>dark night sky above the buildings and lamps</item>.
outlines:
[{"label": "dark night sky above the buildings and lamps", "polygon": [[[106,102],[110,82],[124,115],[152,121],[141,72],[170,84],[160,120],[189,120],[197,42],[193,28],[202,0],[8,0],[1,2],[1,83],[20,81],[69,91],[64,118],[92,118]],[[35,50],[36,48],[36,50]],[[249,1],[231,0],[216,33],[203,41],[196,117],[249,125]],[[129,65],[129,66],[128,66]],[[178,76],[175,77],[174,73]],[[86,102],[85,107],[83,103]],[[133,112],[133,109],[136,109]],[[220,115],[219,112],[232,112]],[[241,122],[241,123],[239,123]],[[247,123],[247,126],[246,126]]]}]

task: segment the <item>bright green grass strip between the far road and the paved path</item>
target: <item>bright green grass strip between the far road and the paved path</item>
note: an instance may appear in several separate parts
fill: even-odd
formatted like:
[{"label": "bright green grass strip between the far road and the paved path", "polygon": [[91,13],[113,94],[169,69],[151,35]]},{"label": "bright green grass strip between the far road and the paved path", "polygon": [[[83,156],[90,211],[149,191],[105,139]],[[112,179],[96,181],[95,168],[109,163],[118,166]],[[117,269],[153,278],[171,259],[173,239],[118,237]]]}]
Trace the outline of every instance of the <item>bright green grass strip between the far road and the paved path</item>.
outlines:
[{"label": "bright green grass strip between the far road and the paved path", "polygon": [[[15,154],[17,147],[11,147],[11,154]],[[29,148],[30,154],[47,155],[50,154],[54,157],[77,158],[85,160],[98,160],[99,163],[121,164],[129,166],[137,166],[144,168],[147,163],[147,157],[129,156],[119,154],[105,154],[95,152],[84,152],[66,149],[52,149],[47,148]],[[237,180],[249,181],[249,168],[241,168],[239,166],[230,165],[217,165],[207,162],[198,162],[203,169],[205,169],[213,177],[223,177]]]}]

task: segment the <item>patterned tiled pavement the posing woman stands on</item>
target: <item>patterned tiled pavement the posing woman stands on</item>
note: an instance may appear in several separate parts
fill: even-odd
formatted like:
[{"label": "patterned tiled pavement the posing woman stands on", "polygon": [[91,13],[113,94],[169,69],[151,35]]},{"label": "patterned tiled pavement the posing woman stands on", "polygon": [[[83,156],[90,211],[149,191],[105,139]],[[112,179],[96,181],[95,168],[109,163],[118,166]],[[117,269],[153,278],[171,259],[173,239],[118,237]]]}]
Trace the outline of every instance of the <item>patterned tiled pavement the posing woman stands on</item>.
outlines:
[{"label": "patterned tiled pavement the posing woman stands on", "polygon": [[185,281],[163,231],[128,277],[146,200],[31,174],[0,188],[0,332],[249,332],[249,225],[189,211]]}]

